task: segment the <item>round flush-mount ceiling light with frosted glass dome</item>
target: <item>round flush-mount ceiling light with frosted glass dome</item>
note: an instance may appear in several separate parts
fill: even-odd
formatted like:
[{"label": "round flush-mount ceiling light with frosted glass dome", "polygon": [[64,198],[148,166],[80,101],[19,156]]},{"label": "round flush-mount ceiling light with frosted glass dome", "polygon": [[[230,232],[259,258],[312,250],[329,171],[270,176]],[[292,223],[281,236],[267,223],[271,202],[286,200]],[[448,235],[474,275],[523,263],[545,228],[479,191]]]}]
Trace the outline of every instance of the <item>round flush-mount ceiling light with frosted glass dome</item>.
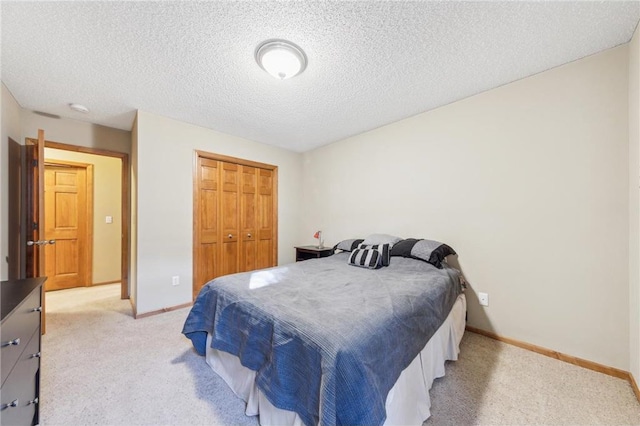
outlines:
[{"label": "round flush-mount ceiling light with frosted glass dome", "polygon": [[302,49],[287,40],[267,40],[256,49],[258,65],[279,80],[300,74],[307,67]]}]

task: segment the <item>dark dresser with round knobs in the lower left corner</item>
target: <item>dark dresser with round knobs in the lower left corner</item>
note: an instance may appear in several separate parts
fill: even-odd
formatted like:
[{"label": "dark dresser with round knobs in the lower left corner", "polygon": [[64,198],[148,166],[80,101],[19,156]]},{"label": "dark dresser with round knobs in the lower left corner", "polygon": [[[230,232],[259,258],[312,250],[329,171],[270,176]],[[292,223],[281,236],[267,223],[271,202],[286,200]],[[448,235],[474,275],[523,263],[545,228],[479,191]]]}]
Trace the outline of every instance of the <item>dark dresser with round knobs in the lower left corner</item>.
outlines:
[{"label": "dark dresser with round knobs in the lower left corner", "polygon": [[0,284],[2,425],[40,422],[40,315],[45,280],[45,277],[28,278]]}]

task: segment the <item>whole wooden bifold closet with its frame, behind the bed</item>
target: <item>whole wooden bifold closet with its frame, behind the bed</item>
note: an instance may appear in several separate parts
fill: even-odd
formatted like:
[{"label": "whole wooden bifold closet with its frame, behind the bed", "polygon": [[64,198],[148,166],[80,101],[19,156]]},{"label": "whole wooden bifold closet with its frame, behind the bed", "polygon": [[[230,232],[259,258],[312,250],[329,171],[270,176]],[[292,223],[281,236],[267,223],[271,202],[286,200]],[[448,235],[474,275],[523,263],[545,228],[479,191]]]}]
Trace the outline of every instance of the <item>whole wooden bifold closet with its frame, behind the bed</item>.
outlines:
[{"label": "whole wooden bifold closet with its frame, behind the bed", "polygon": [[277,263],[276,166],[196,151],[193,297],[221,275]]}]

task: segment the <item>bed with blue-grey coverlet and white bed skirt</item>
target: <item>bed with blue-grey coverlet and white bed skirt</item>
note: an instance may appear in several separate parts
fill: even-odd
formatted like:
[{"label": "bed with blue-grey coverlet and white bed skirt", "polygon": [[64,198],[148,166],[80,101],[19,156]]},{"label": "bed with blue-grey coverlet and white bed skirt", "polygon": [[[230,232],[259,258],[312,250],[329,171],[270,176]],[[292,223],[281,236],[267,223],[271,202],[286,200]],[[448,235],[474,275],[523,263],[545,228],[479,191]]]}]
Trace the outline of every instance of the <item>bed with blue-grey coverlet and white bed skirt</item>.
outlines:
[{"label": "bed with blue-grey coverlet and white bed skirt", "polygon": [[371,269],[350,264],[353,245],[217,278],[183,333],[263,425],[421,424],[457,359],[466,301],[459,271],[411,255],[424,255],[416,241]]}]

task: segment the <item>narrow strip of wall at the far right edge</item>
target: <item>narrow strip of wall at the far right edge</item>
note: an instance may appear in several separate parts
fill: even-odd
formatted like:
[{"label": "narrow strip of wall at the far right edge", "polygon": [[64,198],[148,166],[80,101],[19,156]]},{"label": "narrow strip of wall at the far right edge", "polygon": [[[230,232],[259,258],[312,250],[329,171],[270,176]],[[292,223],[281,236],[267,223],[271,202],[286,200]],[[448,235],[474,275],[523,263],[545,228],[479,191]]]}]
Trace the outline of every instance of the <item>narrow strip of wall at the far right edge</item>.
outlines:
[{"label": "narrow strip of wall at the far right edge", "polygon": [[629,354],[640,383],[640,28],[629,44]]}]

